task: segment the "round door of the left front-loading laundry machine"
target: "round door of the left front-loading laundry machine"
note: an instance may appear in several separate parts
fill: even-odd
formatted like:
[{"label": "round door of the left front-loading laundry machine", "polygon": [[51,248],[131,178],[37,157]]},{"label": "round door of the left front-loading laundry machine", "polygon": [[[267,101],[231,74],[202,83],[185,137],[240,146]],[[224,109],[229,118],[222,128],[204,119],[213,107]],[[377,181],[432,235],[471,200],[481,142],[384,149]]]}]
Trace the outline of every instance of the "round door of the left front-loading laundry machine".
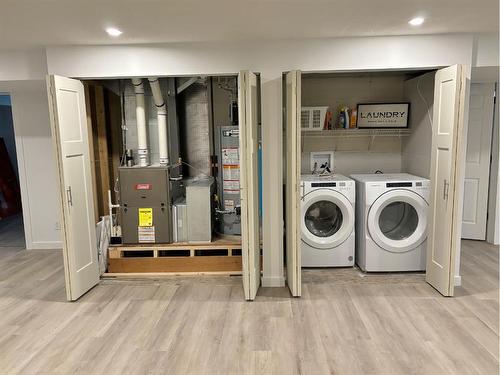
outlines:
[{"label": "round door of the left front-loading laundry machine", "polygon": [[302,240],[317,249],[332,249],[354,230],[354,209],[340,192],[317,189],[302,202]]}]

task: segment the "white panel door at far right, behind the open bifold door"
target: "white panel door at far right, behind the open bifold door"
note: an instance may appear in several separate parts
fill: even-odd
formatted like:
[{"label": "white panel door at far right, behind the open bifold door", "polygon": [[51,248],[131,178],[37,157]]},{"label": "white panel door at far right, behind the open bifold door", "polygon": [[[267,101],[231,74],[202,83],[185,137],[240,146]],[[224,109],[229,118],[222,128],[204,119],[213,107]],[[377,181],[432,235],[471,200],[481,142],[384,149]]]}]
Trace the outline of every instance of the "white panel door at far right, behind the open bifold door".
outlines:
[{"label": "white panel door at far right, behind the open bifold door", "polygon": [[494,95],[493,83],[471,85],[462,238],[486,239]]}]

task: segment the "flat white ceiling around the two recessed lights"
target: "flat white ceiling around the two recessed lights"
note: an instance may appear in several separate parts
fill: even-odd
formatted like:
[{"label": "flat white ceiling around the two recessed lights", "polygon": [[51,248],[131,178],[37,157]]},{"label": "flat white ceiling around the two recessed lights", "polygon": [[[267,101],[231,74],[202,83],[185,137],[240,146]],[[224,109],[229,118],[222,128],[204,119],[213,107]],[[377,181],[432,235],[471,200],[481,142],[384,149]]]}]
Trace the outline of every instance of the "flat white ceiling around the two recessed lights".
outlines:
[{"label": "flat white ceiling around the two recessed lights", "polygon": [[[2,0],[0,49],[498,32],[498,0]],[[408,20],[425,17],[419,27]],[[112,38],[104,28],[123,31]],[[339,51],[342,53],[342,51]]]}]

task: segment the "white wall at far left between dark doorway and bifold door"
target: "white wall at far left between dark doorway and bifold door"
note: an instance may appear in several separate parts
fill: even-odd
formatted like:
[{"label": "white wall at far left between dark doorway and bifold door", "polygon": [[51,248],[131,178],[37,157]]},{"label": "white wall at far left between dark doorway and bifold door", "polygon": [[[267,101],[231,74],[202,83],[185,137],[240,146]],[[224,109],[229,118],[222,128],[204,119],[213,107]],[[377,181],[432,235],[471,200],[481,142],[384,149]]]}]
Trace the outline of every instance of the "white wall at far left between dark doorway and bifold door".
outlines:
[{"label": "white wall at far left between dark doorway and bifold door", "polygon": [[11,94],[28,249],[60,248],[59,200],[45,81],[0,82]]}]

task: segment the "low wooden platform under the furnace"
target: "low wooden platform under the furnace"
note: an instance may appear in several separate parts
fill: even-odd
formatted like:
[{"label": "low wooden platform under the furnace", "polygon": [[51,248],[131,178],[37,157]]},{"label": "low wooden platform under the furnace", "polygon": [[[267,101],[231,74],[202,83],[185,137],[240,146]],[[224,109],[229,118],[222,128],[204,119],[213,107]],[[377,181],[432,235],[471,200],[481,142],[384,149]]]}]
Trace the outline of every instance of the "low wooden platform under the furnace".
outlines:
[{"label": "low wooden platform under the furnace", "polygon": [[110,247],[108,274],[241,274],[241,242],[141,244]]}]

